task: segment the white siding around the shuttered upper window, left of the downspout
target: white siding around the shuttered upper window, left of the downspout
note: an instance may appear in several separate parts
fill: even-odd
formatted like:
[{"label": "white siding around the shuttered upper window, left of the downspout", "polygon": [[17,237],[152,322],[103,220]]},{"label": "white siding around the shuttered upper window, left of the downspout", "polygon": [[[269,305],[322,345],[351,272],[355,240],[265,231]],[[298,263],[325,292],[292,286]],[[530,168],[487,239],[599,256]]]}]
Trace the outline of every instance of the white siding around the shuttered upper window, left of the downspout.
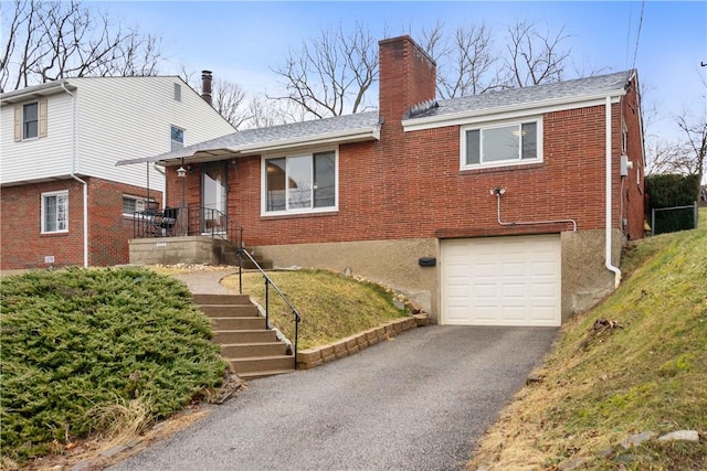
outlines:
[{"label": "white siding around the shuttered upper window, left of the downspout", "polygon": [[[14,105],[2,106],[0,183],[45,179],[71,173],[71,97],[51,95],[46,101],[46,137],[14,141]],[[25,103],[30,103],[28,99]],[[22,104],[19,104],[20,106]]]}]

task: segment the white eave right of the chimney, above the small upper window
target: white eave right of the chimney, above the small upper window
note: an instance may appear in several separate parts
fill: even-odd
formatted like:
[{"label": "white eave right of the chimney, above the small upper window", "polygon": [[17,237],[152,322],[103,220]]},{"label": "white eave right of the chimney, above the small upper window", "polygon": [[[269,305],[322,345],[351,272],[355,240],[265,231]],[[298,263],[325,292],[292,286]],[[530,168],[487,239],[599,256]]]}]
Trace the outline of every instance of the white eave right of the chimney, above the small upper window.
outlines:
[{"label": "white eave right of the chimney, above the small upper window", "polygon": [[479,110],[467,110],[458,113],[450,113],[441,116],[430,116],[424,118],[411,118],[402,121],[404,131],[414,131],[429,128],[437,128],[443,126],[453,126],[466,120],[488,119],[492,116],[511,117],[514,115],[529,115],[548,113],[549,110],[577,108],[578,105],[591,106],[597,103],[603,103],[608,96],[618,98],[626,94],[624,88],[604,92],[601,94],[582,95],[577,97],[563,97],[547,99],[541,101],[523,103],[510,106],[497,106]]}]

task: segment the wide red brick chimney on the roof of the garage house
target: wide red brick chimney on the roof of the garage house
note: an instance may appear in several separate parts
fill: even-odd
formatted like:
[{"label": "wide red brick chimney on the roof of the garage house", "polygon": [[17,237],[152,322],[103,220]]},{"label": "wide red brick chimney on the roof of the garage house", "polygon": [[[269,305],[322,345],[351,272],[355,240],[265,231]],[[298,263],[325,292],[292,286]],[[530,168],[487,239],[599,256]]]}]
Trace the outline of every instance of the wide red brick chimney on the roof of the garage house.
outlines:
[{"label": "wide red brick chimney on the roof of the garage house", "polygon": [[380,41],[378,54],[379,115],[400,126],[410,108],[434,99],[436,64],[410,36]]}]

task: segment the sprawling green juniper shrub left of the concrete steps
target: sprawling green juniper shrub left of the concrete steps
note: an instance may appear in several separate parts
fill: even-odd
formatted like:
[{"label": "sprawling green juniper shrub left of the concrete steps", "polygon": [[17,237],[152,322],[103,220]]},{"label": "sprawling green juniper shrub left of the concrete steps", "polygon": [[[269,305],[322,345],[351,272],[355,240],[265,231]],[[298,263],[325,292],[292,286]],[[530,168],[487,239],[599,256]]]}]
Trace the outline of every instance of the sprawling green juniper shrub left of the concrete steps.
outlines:
[{"label": "sprawling green juniper shrub left of the concrete steps", "polygon": [[45,454],[101,432],[136,399],[147,421],[221,384],[225,363],[187,287],[143,268],[31,271],[1,281],[2,453]]}]

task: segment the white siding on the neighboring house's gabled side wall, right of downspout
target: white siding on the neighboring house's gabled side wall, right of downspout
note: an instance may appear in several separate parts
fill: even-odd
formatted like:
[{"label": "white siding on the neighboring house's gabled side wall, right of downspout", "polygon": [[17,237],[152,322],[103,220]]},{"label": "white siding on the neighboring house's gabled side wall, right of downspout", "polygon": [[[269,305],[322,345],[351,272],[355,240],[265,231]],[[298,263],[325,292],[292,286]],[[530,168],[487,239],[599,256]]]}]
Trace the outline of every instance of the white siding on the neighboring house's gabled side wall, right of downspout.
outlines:
[{"label": "white siding on the neighboring house's gabled side wall, right of downspout", "polygon": [[[125,159],[171,150],[171,125],[184,129],[184,146],[234,132],[198,94],[178,77],[73,79],[78,86],[78,167],[82,173],[145,186],[147,164],[115,167]],[[175,83],[182,86],[175,100]],[[163,190],[163,178],[150,171],[150,188]]]}]

